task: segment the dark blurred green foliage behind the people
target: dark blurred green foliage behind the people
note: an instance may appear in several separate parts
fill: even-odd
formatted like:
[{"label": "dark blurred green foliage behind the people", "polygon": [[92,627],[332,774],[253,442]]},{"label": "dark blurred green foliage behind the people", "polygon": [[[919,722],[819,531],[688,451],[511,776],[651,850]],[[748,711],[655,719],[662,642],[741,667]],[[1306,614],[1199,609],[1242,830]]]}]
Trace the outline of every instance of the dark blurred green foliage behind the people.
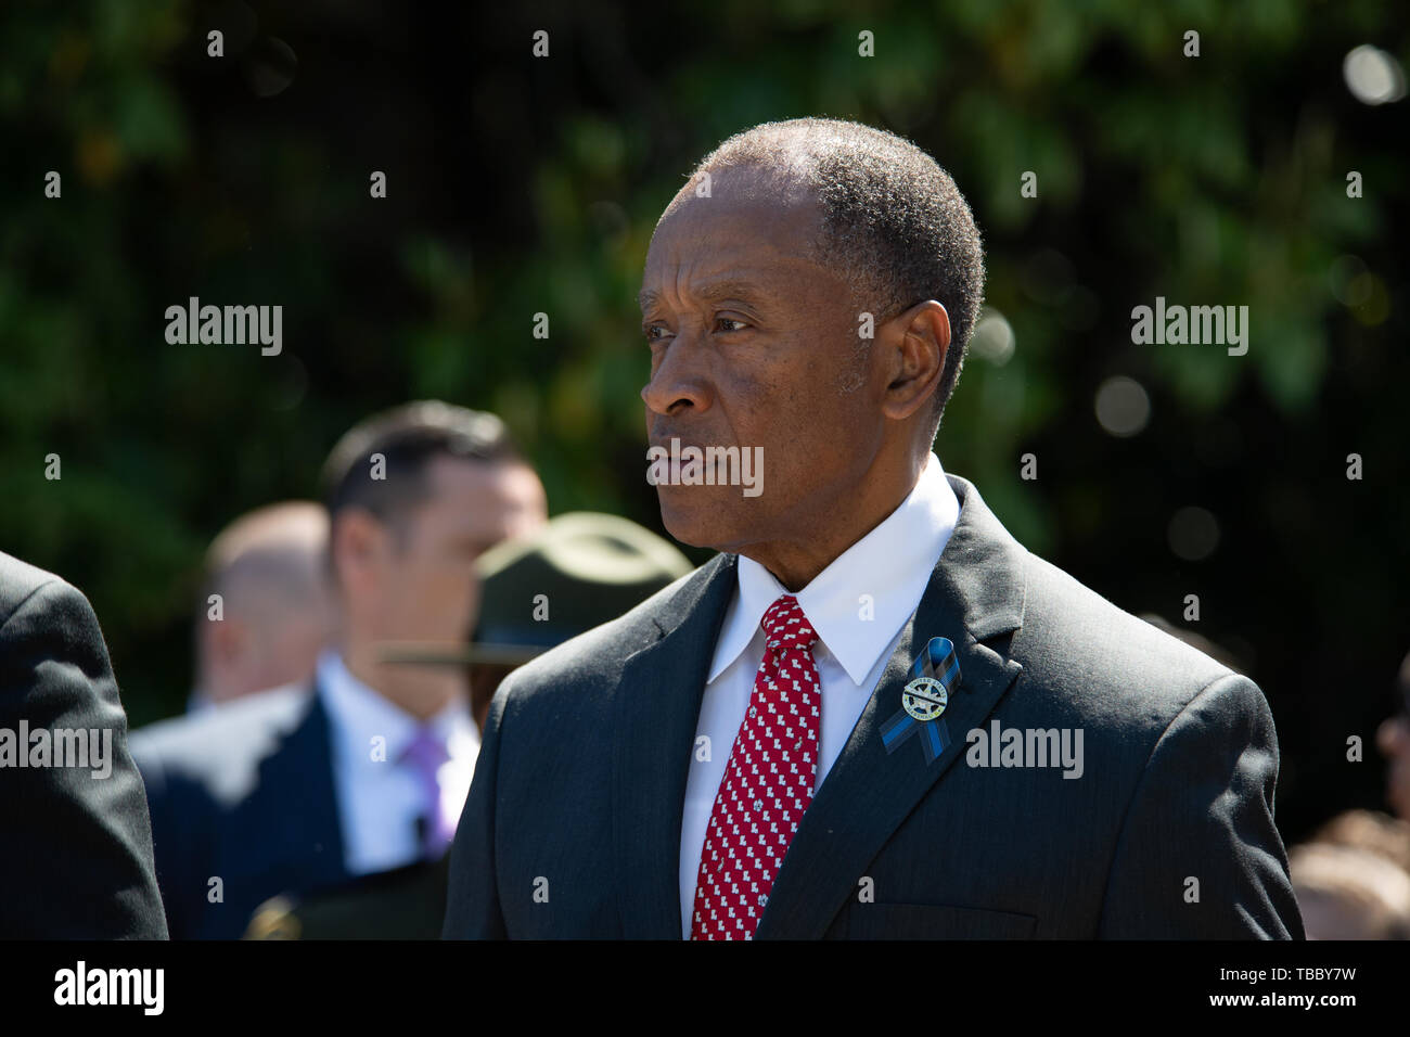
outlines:
[{"label": "dark blurred green foliage behind the people", "polygon": [[[185,698],[212,535],[309,497],[372,409],[496,411],[553,511],[660,528],[634,305],[656,217],[730,133],[860,119],[953,172],[1012,329],[1007,363],[966,367],[946,467],[1129,611],[1179,622],[1200,595],[1190,625],[1273,705],[1296,838],[1379,804],[1371,741],[1410,648],[1406,102],[1348,92],[1368,42],[1410,59],[1402,4],[6,4],[0,549],[89,594],[141,724]],[[192,295],[282,303],[283,354],[168,346]],[[1134,346],[1156,295],[1248,305],[1248,356]],[[1134,437],[1094,416],[1118,374],[1151,398]],[[1196,563],[1167,538],[1187,505],[1221,530]]]}]

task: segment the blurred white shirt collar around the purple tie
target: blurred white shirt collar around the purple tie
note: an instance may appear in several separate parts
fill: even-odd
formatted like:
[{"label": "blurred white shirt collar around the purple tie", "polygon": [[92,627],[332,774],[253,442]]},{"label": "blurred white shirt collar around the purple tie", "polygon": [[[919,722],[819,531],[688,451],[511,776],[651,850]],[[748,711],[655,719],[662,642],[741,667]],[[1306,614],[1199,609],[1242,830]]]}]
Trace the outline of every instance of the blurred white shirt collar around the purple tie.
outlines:
[{"label": "blurred white shirt collar around the purple tie", "polygon": [[[399,760],[422,727],[416,717],[354,677],[343,656],[333,649],[319,655],[316,681],[340,741],[355,753],[354,759],[368,758],[372,738],[385,738],[386,759]],[[450,703],[424,725],[446,742],[453,758],[479,744],[475,721],[464,700]]]}]

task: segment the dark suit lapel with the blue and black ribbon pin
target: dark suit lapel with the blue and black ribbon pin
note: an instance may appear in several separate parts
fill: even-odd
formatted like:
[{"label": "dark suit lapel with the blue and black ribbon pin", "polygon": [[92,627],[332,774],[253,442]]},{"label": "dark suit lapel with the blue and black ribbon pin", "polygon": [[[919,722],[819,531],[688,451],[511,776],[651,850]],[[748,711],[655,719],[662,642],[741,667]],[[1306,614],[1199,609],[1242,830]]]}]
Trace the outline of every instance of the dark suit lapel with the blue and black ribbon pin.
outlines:
[{"label": "dark suit lapel with the blue and black ribbon pin", "polygon": [[[1007,641],[983,642],[1022,625],[1026,552],[973,484],[949,480],[962,504],[955,532],[852,738],[798,824],[759,938],[822,937],[885,841],[966,751],[966,732],[980,727],[1022,670],[1007,657]],[[901,708],[911,660],[935,636],[955,642],[962,681],[945,711],[950,745],[926,765],[915,738],[888,755],[880,728]],[[673,801],[678,806],[680,796]]]}]

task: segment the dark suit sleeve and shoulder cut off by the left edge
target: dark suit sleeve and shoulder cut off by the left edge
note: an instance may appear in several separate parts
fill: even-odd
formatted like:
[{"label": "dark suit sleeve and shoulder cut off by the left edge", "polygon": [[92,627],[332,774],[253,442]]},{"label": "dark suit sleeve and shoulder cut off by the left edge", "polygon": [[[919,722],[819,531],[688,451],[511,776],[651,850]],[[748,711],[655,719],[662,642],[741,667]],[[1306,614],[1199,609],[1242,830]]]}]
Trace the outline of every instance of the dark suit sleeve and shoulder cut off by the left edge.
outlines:
[{"label": "dark suit sleeve and shoulder cut off by the left edge", "polygon": [[59,577],[0,553],[0,728],[18,739],[21,721],[111,731],[111,773],[0,768],[0,938],[165,940],[142,779],[97,617]]}]

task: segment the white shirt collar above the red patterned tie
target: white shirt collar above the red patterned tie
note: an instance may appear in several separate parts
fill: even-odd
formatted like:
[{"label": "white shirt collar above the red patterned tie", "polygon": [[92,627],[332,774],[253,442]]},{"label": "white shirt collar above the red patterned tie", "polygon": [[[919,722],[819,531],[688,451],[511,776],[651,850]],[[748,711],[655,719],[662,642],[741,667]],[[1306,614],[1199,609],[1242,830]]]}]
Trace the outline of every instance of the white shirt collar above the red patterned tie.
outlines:
[{"label": "white shirt collar above the red patterned tie", "polygon": [[[919,604],[959,514],[959,499],[932,453],[900,507],[798,591],[798,605],[819,641],[857,687]],[[753,559],[740,556],[737,573],[708,681],[749,648],[764,611],[788,593]]]}]

